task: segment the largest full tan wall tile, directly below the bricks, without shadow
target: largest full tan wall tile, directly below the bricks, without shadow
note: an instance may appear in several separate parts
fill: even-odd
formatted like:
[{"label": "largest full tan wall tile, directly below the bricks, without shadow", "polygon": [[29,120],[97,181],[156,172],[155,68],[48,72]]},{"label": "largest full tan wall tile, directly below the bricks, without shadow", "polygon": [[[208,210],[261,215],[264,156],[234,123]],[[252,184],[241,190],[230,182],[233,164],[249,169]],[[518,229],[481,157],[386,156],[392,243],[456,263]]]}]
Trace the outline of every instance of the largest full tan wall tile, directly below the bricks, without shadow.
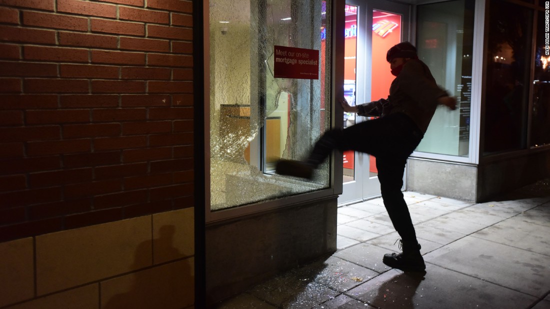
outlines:
[{"label": "largest full tan wall tile, directly below the bricks, without shadow", "polygon": [[152,265],[151,216],[36,237],[37,294]]}]

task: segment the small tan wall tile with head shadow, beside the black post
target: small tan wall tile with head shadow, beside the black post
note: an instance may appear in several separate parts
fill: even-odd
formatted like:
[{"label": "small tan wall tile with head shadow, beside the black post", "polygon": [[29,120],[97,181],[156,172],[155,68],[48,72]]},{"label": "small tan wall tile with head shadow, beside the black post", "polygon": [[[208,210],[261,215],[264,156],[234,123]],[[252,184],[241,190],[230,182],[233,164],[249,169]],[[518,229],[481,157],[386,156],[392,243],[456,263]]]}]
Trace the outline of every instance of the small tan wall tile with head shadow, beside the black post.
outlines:
[{"label": "small tan wall tile with head shadow, beside the black post", "polygon": [[164,263],[195,254],[193,208],[153,215],[153,263]]}]

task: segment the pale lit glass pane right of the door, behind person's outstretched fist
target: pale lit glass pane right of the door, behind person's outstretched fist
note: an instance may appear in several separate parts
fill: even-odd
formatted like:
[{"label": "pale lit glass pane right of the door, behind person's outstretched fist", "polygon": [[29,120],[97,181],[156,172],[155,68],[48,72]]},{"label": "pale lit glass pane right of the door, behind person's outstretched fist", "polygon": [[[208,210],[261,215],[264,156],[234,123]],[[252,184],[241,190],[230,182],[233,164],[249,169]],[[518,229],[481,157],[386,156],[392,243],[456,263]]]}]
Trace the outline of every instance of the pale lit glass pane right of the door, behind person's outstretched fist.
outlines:
[{"label": "pale lit glass pane right of the door, behind person's outstretched fist", "polygon": [[474,1],[417,7],[417,49],[438,85],[457,99],[457,109],[438,106],[416,151],[469,155]]}]

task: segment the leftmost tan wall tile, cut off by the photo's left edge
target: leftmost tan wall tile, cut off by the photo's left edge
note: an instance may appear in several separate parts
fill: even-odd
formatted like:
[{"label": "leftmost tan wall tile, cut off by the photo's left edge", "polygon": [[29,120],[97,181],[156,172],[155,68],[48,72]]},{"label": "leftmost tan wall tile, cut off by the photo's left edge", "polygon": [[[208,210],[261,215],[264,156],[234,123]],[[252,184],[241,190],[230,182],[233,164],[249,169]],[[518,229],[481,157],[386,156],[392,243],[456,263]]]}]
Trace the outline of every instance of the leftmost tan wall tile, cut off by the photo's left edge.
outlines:
[{"label": "leftmost tan wall tile, cut off by the photo's left edge", "polygon": [[0,307],[33,296],[32,238],[0,243]]}]

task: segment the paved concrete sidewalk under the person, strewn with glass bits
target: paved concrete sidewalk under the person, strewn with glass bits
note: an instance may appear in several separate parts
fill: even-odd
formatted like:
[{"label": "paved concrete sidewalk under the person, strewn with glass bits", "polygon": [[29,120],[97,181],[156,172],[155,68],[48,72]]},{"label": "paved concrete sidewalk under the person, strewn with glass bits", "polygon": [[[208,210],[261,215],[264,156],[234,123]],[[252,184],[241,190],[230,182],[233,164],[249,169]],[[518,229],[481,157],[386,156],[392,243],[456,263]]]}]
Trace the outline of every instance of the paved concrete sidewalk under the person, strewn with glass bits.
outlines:
[{"label": "paved concrete sidewalk under the person, strewn with glass bits", "polygon": [[338,209],[338,251],[217,308],[550,309],[550,184],[473,204],[405,192],[426,275],[382,263],[398,251],[382,199]]}]

